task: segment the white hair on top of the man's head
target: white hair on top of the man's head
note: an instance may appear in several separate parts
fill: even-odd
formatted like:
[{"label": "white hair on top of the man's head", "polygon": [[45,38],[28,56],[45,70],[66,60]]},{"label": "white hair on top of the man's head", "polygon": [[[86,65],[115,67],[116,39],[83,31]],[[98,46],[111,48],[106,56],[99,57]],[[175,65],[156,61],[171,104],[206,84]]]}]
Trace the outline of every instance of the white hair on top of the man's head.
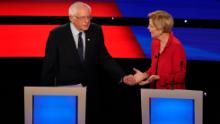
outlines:
[{"label": "white hair on top of the man's head", "polygon": [[92,11],[91,7],[88,4],[78,1],[78,2],[75,2],[72,5],[70,5],[69,15],[75,15],[77,12],[77,9],[79,9],[79,8],[87,8],[89,10],[89,12]]}]

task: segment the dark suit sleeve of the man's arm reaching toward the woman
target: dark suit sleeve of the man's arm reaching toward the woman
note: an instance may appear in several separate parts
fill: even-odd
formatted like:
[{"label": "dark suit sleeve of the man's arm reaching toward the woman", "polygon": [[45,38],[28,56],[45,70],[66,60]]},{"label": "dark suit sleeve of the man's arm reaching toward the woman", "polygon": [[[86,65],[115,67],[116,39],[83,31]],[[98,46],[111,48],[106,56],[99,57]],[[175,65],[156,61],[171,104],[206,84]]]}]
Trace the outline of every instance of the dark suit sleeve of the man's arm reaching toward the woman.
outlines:
[{"label": "dark suit sleeve of the man's arm reaching toward the woman", "polygon": [[100,41],[100,65],[115,82],[120,82],[122,77],[125,75],[124,71],[108,53],[107,48],[104,44],[104,37],[101,27],[98,27],[98,36]]}]

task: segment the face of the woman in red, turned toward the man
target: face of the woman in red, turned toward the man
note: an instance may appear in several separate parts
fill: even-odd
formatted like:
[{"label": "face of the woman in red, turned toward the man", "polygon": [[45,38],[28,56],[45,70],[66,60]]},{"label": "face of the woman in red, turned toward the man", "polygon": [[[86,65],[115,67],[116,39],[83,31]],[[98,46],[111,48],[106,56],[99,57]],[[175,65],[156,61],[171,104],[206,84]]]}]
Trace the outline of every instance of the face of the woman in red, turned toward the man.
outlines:
[{"label": "face of the woman in red, turned toward the man", "polygon": [[162,30],[155,27],[155,25],[152,22],[152,19],[149,19],[149,25],[147,28],[150,31],[152,38],[158,38],[162,34]]}]

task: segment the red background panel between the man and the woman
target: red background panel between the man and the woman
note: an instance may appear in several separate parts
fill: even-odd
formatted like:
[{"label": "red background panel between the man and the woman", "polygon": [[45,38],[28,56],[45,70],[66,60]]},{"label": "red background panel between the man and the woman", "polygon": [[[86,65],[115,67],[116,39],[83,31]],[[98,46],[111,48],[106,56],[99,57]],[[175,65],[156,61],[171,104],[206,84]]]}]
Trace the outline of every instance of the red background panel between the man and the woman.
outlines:
[{"label": "red background panel between the man and the woman", "polygon": [[144,52],[138,44],[129,26],[102,26],[105,44],[115,58],[144,58]]}]

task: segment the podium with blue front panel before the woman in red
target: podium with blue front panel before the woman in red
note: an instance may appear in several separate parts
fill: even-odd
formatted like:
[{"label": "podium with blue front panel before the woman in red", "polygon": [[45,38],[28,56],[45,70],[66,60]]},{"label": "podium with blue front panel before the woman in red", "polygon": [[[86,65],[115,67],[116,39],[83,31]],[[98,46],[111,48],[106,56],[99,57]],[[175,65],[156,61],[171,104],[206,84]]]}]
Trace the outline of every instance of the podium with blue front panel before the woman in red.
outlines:
[{"label": "podium with blue front panel before the woman in red", "polygon": [[141,89],[142,124],[202,124],[203,92]]}]

